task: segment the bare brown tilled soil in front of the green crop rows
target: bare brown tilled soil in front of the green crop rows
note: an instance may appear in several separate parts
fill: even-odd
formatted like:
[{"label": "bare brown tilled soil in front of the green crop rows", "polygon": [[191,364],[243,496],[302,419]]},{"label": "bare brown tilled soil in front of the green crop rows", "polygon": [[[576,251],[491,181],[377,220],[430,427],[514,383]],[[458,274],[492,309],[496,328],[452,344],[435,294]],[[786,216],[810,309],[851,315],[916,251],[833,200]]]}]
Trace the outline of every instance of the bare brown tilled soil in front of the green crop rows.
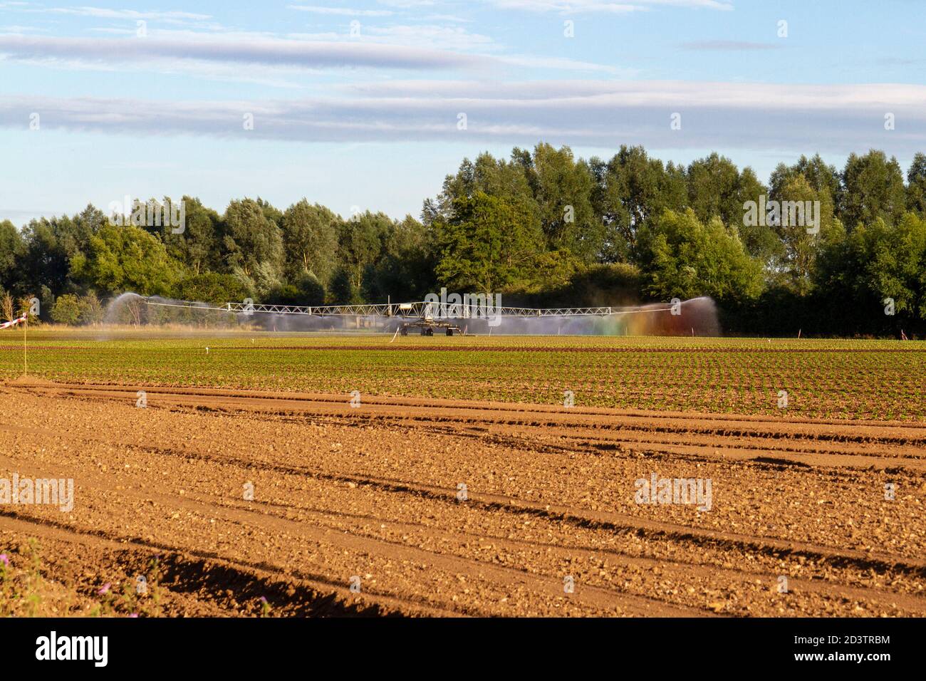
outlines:
[{"label": "bare brown tilled soil in front of the green crop rows", "polygon": [[924,423],[138,389],[0,386],[0,477],[75,487],[0,505],[0,553],[81,597],[157,556],[144,613],[926,614]]}]

